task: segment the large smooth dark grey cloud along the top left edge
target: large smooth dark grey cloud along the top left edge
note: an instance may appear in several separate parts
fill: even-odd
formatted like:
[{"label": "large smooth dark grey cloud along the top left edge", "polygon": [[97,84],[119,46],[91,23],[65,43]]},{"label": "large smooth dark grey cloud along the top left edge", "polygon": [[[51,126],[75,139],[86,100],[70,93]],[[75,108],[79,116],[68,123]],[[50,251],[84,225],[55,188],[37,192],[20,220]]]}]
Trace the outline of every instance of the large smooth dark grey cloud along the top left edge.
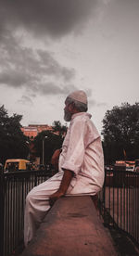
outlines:
[{"label": "large smooth dark grey cloud along the top left edge", "polygon": [[96,0],[1,0],[0,32],[24,28],[36,35],[61,37],[82,30]]}]

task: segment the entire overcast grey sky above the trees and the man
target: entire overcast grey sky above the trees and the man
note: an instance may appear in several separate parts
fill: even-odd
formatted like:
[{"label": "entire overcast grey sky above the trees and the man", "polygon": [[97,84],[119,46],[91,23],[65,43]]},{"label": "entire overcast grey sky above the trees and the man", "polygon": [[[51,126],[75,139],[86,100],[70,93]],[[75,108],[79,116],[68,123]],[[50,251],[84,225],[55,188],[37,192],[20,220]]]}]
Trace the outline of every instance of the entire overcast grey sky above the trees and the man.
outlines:
[{"label": "entire overcast grey sky above the trees and the man", "polygon": [[0,0],[0,106],[22,125],[63,124],[85,90],[101,133],[107,109],[139,101],[138,0]]}]

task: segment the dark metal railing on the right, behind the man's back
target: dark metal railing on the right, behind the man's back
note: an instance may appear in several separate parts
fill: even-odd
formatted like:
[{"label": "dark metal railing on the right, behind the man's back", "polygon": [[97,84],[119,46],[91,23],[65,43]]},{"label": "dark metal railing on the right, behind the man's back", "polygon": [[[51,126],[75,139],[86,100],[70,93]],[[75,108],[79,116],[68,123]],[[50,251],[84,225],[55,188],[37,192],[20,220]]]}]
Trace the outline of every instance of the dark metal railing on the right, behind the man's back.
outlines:
[{"label": "dark metal railing on the right, behind the man's back", "polygon": [[139,245],[139,173],[106,170],[99,196],[107,224],[126,232]]}]

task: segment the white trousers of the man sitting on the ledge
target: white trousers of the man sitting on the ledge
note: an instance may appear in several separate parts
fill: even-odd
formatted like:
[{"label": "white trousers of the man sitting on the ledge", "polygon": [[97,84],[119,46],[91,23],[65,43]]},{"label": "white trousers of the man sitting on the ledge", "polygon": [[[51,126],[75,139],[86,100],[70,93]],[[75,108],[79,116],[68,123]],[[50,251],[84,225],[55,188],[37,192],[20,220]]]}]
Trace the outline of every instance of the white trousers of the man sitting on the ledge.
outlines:
[{"label": "white trousers of the man sitting on the ledge", "polygon": [[[24,244],[32,240],[36,229],[44,219],[46,212],[50,209],[49,196],[57,191],[60,186],[63,173],[57,173],[39,186],[32,188],[26,198],[24,214]],[[74,185],[73,185],[74,184]],[[100,187],[89,185],[84,178],[74,180],[69,185],[67,196],[95,195]]]}]

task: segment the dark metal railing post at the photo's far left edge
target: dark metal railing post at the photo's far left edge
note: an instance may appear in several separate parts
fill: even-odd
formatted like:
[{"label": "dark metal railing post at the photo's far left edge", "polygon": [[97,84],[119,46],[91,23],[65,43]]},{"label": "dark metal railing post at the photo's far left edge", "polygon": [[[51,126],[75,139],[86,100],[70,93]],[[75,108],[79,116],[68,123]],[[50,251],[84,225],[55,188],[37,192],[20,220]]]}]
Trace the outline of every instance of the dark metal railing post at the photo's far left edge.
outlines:
[{"label": "dark metal railing post at the photo's far left edge", "polygon": [[4,255],[4,217],[5,217],[5,191],[4,169],[0,167],[0,255]]}]

